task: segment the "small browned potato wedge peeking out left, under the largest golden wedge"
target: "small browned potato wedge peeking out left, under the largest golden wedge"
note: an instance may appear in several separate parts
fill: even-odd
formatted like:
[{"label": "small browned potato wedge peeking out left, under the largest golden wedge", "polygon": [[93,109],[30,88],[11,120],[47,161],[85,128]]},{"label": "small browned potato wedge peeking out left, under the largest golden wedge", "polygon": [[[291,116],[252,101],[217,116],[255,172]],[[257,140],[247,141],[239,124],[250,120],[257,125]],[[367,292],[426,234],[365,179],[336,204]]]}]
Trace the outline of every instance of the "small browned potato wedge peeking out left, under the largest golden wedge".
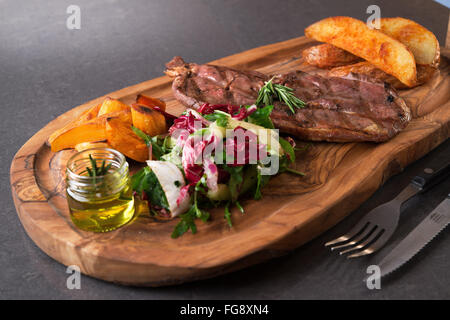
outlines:
[{"label": "small browned potato wedge peeking out left, under the largest golden wedge", "polygon": [[302,52],[302,56],[306,63],[324,69],[345,66],[362,61],[360,57],[329,43],[305,49]]}]

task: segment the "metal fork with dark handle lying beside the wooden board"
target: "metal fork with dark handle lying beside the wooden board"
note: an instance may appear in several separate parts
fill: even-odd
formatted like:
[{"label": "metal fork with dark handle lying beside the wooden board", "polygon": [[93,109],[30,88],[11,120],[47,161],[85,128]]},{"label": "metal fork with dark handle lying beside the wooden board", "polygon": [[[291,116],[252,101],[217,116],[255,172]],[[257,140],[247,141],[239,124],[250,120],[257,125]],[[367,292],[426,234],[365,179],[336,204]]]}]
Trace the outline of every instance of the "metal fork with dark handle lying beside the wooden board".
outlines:
[{"label": "metal fork with dark handle lying beside the wooden board", "polygon": [[380,249],[397,229],[402,204],[442,181],[450,172],[447,158],[434,161],[433,167],[435,170],[426,168],[393,200],[370,211],[348,233],[325,243],[325,246],[332,246],[332,251],[342,249],[339,254],[348,253],[347,258],[365,256]]}]

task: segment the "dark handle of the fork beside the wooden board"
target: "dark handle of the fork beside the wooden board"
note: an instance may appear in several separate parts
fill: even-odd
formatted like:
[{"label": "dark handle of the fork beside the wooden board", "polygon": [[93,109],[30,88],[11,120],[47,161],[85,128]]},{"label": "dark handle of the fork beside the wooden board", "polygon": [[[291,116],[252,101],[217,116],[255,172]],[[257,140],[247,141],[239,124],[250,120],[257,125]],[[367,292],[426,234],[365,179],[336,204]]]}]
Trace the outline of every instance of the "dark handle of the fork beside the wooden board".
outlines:
[{"label": "dark handle of the fork beside the wooden board", "polygon": [[450,173],[450,160],[447,157],[435,159],[421,173],[412,179],[412,183],[421,191],[425,191],[445,180]]}]

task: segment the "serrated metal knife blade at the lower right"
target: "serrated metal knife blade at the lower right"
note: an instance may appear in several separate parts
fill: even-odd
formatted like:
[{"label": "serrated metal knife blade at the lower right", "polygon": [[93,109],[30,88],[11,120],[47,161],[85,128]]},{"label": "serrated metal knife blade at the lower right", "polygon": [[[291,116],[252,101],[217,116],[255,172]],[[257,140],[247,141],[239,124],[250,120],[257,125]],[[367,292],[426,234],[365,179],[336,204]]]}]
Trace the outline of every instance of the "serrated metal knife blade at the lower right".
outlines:
[{"label": "serrated metal knife blade at the lower right", "polygon": [[397,270],[450,223],[450,194],[378,264],[381,277]]}]

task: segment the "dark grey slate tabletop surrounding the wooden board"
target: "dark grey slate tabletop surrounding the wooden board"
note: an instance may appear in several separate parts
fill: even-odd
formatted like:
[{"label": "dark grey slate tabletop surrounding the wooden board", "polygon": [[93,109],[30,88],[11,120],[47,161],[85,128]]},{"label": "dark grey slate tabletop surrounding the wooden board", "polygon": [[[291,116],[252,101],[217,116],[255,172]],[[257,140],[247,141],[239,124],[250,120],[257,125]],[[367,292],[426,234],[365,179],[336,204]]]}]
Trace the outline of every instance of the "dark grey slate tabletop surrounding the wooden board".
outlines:
[{"label": "dark grey slate tabletop surrounding the wooden board", "polygon": [[[66,8],[81,7],[81,30],[66,28]],[[411,200],[385,250],[347,261],[323,243],[344,233],[371,208],[395,195],[430,159],[449,158],[450,143],[390,179],[357,211],[319,238],[233,274],[167,288],[130,288],[81,278],[66,287],[66,268],[40,251],[15,212],[9,166],[15,152],[61,113],[100,95],[162,75],[174,55],[198,63],[303,34],[330,16],[411,18],[441,44],[449,11],[432,1],[2,1],[0,2],[0,298],[3,299],[437,299],[450,298],[448,229],[380,290],[362,282],[368,265],[387,254],[437,205],[447,181]]]}]

